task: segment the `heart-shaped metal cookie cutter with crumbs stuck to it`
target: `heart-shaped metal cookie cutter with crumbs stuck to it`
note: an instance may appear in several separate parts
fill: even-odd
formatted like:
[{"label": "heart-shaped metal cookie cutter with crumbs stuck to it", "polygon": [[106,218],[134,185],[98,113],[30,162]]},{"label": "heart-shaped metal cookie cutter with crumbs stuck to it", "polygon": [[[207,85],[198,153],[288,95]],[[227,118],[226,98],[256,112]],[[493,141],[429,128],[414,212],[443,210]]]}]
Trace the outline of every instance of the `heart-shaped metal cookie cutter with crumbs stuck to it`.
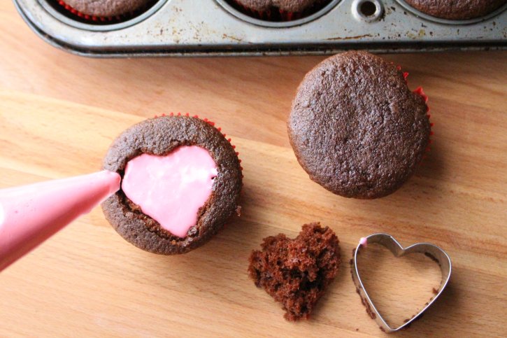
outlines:
[{"label": "heart-shaped metal cookie cutter with crumbs stuck to it", "polygon": [[[385,246],[388,248],[394,255],[394,257],[401,257],[404,255],[408,255],[410,253],[424,253],[424,255],[427,255],[431,260],[434,260],[434,262],[438,263],[440,266],[440,269],[442,270],[442,281],[440,284],[440,288],[438,288],[438,293],[433,297],[433,299],[426,303],[426,307],[422,309],[417,315],[413,316],[409,321],[404,323],[404,325],[401,325],[399,328],[391,328],[387,323],[385,323],[384,318],[378,313],[378,310],[376,309],[375,305],[373,305],[373,302],[371,302],[371,299],[366,293],[366,290],[364,290],[363,283],[361,281],[361,278],[359,277],[359,272],[357,271],[357,253],[359,249],[362,246],[366,246],[367,244],[380,244],[381,246]],[[427,244],[427,243],[420,243],[420,244],[414,244],[413,246],[409,246],[408,248],[404,249],[394,237],[388,235],[388,234],[372,234],[369,237],[366,237],[366,239],[362,239],[362,242],[359,243],[357,248],[354,250],[354,258],[350,261],[351,269],[352,269],[352,279],[354,280],[354,283],[356,285],[357,293],[359,293],[359,296],[361,296],[361,301],[366,307],[366,312],[373,318],[377,324],[380,326],[380,330],[383,330],[384,332],[395,332],[398,330],[401,330],[402,328],[408,328],[411,323],[416,321],[428,307],[435,302],[435,300],[440,296],[445,286],[447,286],[447,283],[450,278],[450,272],[451,272],[451,263],[449,256],[441,249],[438,248],[438,246],[434,246],[433,244]]]}]

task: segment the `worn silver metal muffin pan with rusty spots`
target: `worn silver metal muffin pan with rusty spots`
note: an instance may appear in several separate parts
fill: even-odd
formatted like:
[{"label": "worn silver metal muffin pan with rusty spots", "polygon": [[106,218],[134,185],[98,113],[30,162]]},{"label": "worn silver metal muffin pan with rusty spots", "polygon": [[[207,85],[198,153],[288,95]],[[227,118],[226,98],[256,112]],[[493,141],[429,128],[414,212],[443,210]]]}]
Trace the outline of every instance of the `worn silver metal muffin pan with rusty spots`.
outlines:
[{"label": "worn silver metal muffin pan with rusty spots", "polygon": [[[507,6],[475,20],[441,20],[404,0],[333,0],[291,22],[238,13],[226,0],[159,0],[117,24],[87,24],[48,1],[13,0],[48,43],[91,57],[327,55],[507,48]],[[364,13],[364,2],[371,13]],[[372,10],[373,8],[373,10]]]}]

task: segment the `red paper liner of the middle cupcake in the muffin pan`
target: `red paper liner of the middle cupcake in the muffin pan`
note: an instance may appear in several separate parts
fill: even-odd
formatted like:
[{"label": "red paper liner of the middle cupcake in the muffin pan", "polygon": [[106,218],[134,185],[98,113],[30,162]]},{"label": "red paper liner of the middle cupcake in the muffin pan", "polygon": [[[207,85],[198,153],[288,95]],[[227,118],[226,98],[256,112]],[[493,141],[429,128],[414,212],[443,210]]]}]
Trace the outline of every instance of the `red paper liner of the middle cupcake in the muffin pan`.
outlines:
[{"label": "red paper liner of the middle cupcake in the muffin pan", "polygon": [[321,10],[324,6],[330,3],[331,0],[317,0],[312,6],[301,12],[287,12],[286,10],[281,10],[276,7],[271,7],[269,10],[259,11],[243,5],[243,3],[240,3],[238,0],[229,0],[228,2],[231,6],[236,8],[236,10],[250,17],[254,17],[255,19],[271,22],[289,22],[317,13],[317,11]]}]

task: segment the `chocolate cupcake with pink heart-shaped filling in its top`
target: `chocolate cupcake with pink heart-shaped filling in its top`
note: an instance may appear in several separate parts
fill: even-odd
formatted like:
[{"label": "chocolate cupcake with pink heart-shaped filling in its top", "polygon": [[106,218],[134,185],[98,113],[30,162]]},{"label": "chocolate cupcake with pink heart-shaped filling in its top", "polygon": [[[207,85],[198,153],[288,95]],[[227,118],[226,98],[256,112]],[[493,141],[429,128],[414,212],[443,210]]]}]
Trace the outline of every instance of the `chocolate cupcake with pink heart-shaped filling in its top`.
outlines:
[{"label": "chocolate cupcake with pink heart-shaped filling in its top", "polygon": [[187,253],[240,214],[238,153],[213,125],[162,116],[113,141],[102,168],[120,174],[122,188],[102,210],[124,239],[151,253]]}]

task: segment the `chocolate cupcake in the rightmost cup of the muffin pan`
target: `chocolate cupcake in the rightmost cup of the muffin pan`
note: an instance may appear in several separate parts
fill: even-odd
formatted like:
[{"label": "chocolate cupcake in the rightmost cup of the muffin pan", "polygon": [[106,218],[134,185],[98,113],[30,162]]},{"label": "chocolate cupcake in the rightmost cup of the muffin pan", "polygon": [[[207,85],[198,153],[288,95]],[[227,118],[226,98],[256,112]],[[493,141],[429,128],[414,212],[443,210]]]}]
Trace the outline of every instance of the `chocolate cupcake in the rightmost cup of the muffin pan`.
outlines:
[{"label": "chocolate cupcake in the rightmost cup of the muffin pan", "polygon": [[448,20],[467,20],[494,12],[507,0],[405,0],[422,13]]}]

